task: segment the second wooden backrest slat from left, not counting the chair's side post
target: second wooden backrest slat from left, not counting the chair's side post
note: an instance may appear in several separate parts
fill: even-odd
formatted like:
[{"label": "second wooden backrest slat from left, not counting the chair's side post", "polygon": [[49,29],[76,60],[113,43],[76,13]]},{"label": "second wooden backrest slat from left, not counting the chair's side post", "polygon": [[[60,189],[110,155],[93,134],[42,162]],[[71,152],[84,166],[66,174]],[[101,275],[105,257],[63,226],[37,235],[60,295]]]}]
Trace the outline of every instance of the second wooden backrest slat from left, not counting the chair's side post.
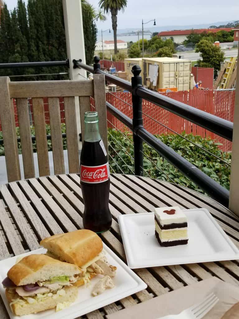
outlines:
[{"label": "second wooden backrest slat from left, not counting the chair's side post", "polygon": [[37,144],[39,175],[50,175],[43,99],[33,98],[33,116]]}]

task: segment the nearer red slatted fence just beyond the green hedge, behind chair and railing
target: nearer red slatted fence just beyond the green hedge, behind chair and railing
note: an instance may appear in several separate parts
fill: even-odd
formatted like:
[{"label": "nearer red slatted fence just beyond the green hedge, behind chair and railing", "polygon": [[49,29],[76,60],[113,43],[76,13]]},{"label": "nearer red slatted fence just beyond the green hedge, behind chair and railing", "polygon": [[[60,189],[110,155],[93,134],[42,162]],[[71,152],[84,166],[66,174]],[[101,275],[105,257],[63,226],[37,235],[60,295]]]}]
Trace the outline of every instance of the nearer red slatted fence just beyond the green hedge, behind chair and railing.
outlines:
[{"label": "nearer red slatted fence just beyond the green hedge, behind chair and railing", "polygon": [[[223,119],[233,122],[234,117],[234,106],[235,106],[235,90],[190,90],[182,92],[170,92],[162,93],[171,99],[183,102],[194,108],[198,108],[207,113],[219,116]],[[119,99],[120,98],[120,99]],[[93,99],[91,99],[93,101]],[[106,93],[106,100],[118,108],[128,117],[133,117],[132,110],[132,99],[131,93],[129,92],[116,92],[116,93]],[[18,126],[18,115],[16,109],[16,102],[13,100],[15,108],[15,121],[16,126]],[[45,110],[45,120],[49,124],[49,109],[47,98],[43,99],[44,110]],[[93,102],[92,102],[93,103]],[[169,111],[160,108],[159,106],[143,100],[142,103],[144,127],[152,134],[162,134],[162,133],[182,133],[185,131],[187,134],[200,135],[201,137],[211,137],[218,143],[223,152],[231,151],[232,143],[228,140],[190,122],[180,116],[174,115]],[[60,112],[61,112],[61,122],[65,122],[65,112],[64,112],[64,100],[60,98]],[[34,124],[34,115],[32,110],[32,100],[29,99],[29,116],[31,124]],[[107,112],[108,127],[117,128],[118,130],[124,131],[127,128],[125,125],[117,120],[114,115]],[[0,123],[0,130],[1,123]]]}]

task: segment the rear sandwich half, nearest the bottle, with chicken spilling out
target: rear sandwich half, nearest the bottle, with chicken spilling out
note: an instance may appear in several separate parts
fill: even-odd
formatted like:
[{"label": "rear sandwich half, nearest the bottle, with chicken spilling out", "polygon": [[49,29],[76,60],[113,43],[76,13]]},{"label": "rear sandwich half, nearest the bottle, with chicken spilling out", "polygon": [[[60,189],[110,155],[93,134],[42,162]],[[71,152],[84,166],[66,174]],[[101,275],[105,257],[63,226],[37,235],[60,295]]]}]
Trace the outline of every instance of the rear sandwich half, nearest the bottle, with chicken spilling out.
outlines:
[{"label": "rear sandwich half, nearest the bottle, with chicken spilling out", "polygon": [[[88,229],[80,229],[66,234],[57,234],[40,241],[47,249],[47,255],[58,260],[76,264],[81,269],[81,275],[74,283],[81,286],[96,275],[114,277],[116,267],[109,265],[102,251],[103,243],[100,237]],[[109,284],[109,278],[108,278]],[[112,288],[111,282],[109,287]]]}]

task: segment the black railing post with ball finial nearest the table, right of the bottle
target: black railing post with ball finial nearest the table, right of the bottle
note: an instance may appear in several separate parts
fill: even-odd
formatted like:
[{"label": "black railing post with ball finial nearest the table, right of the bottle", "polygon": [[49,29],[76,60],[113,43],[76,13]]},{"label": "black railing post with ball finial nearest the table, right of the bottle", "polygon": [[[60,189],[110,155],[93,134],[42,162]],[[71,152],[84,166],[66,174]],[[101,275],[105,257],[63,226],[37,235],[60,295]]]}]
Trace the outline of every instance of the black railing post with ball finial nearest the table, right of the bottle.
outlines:
[{"label": "black railing post with ball finial nearest the table, right of the bottle", "polygon": [[143,176],[143,141],[137,136],[137,130],[143,127],[142,118],[142,98],[136,95],[136,90],[142,86],[141,68],[134,65],[131,78],[132,84],[132,104],[133,104],[133,139],[134,139],[134,175]]}]

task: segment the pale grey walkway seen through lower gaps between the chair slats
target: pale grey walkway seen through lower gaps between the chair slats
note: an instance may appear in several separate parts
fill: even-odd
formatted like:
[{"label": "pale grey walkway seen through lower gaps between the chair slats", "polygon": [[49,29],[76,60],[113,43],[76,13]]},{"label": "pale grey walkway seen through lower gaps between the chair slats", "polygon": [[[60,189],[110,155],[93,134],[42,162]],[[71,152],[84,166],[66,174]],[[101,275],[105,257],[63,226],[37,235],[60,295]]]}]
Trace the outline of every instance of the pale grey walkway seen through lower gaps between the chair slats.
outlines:
[{"label": "pale grey walkway seen through lower gaps between the chair slats", "polygon": [[[68,167],[68,155],[67,150],[64,150],[64,162],[65,162],[65,173],[69,173]],[[54,175],[54,165],[53,165],[53,155],[52,152],[48,152],[49,157],[49,166],[50,166],[50,174]],[[35,165],[35,172],[36,177],[39,177],[39,170],[38,170],[38,161],[37,161],[37,153],[33,153],[34,158],[34,165]],[[23,170],[23,162],[22,162],[22,155],[19,155],[20,160],[20,169],[21,169],[21,177],[24,179],[24,170]],[[5,163],[5,156],[0,156],[0,184],[6,184],[7,180],[7,171],[6,171],[6,163]]]}]

